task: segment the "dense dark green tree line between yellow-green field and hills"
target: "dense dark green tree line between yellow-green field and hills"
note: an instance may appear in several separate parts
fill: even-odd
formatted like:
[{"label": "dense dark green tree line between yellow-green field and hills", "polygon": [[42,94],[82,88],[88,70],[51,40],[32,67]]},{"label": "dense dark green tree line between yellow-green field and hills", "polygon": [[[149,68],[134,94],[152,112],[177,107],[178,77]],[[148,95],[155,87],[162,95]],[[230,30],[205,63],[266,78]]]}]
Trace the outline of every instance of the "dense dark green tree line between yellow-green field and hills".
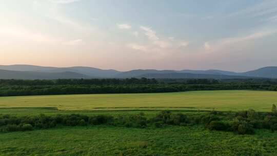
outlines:
[{"label": "dense dark green tree line between yellow-green field and hills", "polygon": [[272,81],[222,82],[208,79],[59,79],[59,80],[0,80],[0,96],[96,94],[96,93],[159,93],[194,90],[272,90]]}]

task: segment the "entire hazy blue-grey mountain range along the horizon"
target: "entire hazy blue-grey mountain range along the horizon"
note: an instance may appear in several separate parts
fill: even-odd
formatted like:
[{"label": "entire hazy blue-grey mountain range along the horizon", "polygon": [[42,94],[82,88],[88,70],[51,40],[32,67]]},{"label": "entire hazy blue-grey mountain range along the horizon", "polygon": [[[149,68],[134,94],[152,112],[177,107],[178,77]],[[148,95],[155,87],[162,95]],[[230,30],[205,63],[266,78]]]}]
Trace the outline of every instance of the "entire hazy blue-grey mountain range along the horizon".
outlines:
[{"label": "entire hazy blue-grey mountain range along the horizon", "polygon": [[147,77],[155,79],[277,79],[277,67],[264,67],[247,72],[223,70],[103,70],[92,67],[43,67],[33,65],[0,65],[0,79],[91,79]]}]

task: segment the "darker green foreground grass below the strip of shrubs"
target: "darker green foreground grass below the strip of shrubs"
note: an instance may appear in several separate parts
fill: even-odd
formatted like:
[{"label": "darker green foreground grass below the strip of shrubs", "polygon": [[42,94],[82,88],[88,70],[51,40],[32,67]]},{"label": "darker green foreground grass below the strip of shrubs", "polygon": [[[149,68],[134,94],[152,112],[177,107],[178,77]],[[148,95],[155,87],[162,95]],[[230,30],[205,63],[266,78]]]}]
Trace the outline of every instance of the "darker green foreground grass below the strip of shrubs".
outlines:
[{"label": "darker green foreground grass below the strip of shrubs", "polygon": [[63,127],[0,135],[0,155],[277,155],[277,134],[202,127]]}]

